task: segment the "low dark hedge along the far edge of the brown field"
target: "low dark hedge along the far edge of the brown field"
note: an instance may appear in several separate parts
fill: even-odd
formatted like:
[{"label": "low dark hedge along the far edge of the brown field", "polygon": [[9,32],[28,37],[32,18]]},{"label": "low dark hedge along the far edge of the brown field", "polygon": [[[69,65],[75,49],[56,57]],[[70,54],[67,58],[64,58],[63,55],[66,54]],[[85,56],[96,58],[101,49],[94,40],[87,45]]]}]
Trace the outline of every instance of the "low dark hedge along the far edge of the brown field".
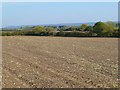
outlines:
[{"label": "low dark hedge along the far edge of the brown field", "polygon": [[93,32],[80,32],[80,31],[60,31],[60,32],[34,32],[33,30],[22,30],[12,32],[2,32],[2,36],[64,36],[64,37],[118,37],[118,32],[96,34]]}]

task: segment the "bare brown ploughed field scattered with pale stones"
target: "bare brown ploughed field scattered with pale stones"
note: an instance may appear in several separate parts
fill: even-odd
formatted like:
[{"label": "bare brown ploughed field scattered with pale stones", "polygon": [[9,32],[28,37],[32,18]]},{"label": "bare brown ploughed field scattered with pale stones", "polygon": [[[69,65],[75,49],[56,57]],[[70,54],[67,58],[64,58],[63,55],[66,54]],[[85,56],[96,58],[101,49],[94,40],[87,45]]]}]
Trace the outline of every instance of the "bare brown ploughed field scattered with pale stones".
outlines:
[{"label": "bare brown ploughed field scattered with pale stones", "polygon": [[118,39],[2,37],[3,88],[118,87]]}]

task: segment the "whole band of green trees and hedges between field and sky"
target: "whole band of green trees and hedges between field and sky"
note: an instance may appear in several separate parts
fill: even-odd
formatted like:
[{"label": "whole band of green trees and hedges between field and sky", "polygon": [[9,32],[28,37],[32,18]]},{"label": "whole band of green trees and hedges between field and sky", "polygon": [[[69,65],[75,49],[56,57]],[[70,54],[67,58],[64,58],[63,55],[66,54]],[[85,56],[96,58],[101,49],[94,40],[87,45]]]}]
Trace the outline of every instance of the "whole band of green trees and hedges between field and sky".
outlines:
[{"label": "whole band of green trees and hedges between field and sky", "polygon": [[18,30],[3,30],[2,36],[65,36],[65,37],[118,37],[119,25],[112,22],[97,22],[93,26],[33,26]]}]

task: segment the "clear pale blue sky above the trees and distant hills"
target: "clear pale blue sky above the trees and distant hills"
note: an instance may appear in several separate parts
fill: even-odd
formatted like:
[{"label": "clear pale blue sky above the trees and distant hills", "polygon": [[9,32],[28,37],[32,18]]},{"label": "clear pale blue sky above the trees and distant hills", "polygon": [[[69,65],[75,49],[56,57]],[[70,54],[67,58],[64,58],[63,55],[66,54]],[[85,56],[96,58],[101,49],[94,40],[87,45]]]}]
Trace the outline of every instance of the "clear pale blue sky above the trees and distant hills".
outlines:
[{"label": "clear pale blue sky above the trees and distant hills", "polygon": [[3,2],[2,25],[117,21],[117,2]]}]

